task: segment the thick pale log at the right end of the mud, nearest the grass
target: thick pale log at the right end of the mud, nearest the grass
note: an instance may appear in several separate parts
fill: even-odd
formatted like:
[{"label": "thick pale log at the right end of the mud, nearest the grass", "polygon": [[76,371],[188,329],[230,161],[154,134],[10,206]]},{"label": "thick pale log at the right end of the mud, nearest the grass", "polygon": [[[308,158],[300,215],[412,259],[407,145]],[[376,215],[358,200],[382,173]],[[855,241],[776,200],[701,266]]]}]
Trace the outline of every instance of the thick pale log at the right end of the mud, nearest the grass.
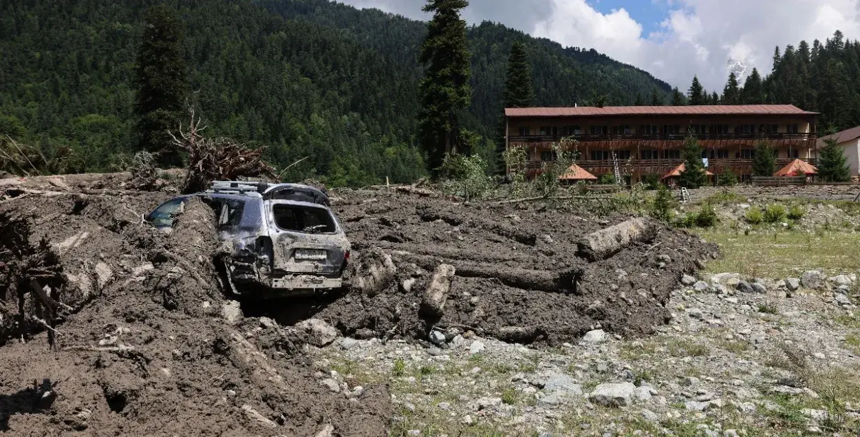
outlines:
[{"label": "thick pale log at the right end of the mud, nearest the grass", "polygon": [[636,242],[651,242],[657,226],[648,219],[631,219],[588,234],[578,243],[578,255],[589,261],[605,260]]}]

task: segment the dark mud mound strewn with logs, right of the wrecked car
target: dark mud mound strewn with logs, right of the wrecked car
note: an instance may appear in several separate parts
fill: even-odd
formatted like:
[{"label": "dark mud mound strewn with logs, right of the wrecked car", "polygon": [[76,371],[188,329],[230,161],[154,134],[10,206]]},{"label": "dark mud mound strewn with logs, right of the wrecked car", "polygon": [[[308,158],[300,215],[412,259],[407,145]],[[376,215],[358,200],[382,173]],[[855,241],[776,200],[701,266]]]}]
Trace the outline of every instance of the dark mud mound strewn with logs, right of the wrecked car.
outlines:
[{"label": "dark mud mound strewn with logs, right of the wrecked car", "polygon": [[689,233],[648,222],[641,241],[589,262],[593,255],[580,246],[587,235],[630,217],[540,204],[463,205],[384,190],[334,198],[353,244],[352,287],[280,311],[274,317],[282,323],[313,316],[345,335],[384,339],[427,339],[432,329],[449,339],[473,330],[546,344],[574,342],[597,328],[643,335],[667,322],[665,305],[681,275],[717,252]]}]

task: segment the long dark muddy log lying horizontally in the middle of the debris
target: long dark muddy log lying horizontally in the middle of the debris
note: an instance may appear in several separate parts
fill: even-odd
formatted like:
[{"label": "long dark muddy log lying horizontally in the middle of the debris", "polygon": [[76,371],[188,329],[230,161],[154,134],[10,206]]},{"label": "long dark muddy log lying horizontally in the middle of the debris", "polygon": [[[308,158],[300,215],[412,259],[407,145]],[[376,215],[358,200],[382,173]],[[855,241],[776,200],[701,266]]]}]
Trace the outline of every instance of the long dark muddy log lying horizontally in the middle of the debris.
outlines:
[{"label": "long dark muddy log lying horizontally in the middle of the debris", "polygon": [[[414,262],[433,270],[439,264],[433,256],[415,255],[408,252],[392,252],[403,262]],[[455,275],[461,278],[481,278],[499,280],[503,285],[524,290],[543,292],[577,292],[577,281],[583,273],[582,268],[574,267],[563,271],[528,270],[525,268],[508,268],[495,264],[476,262],[449,262],[455,269]]]}]

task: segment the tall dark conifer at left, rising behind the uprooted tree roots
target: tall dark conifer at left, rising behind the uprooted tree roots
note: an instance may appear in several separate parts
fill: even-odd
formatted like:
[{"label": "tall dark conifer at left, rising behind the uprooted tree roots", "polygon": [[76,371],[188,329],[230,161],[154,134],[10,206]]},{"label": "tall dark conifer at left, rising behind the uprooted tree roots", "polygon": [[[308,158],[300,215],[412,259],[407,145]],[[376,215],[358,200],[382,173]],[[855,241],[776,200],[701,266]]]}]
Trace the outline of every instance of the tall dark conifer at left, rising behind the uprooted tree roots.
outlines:
[{"label": "tall dark conifer at left, rising behind the uprooted tree roots", "polygon": [[143,40],[138,50],[138,149],[158,152],[163,167],[181,164],[170,145],[168,131],[179,126],[187,93],[184,34],[175,12],[163,5],[147,10]]}]

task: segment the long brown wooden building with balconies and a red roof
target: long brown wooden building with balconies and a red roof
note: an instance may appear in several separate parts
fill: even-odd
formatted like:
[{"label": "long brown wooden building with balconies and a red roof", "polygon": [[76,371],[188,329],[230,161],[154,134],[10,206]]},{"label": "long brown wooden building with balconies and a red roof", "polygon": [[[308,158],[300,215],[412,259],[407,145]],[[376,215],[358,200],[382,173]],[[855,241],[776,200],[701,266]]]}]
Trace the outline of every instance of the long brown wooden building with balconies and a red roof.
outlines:
[{"label": "long brown wooden building with balconies and a red roof", "polygon": [[817,113],[792,105],[507,108],[506,148],[528,153],[529,177],[555,159],[553,143],[575,147],[576,163],[593,175],[613,173],[613,155],[629,183],[677,168],[687,132],[696,135],[708,171],[741,180],[753,173],[755,147],[764,139],[777,151],[777,168],[795,159],[814,164]]}]

